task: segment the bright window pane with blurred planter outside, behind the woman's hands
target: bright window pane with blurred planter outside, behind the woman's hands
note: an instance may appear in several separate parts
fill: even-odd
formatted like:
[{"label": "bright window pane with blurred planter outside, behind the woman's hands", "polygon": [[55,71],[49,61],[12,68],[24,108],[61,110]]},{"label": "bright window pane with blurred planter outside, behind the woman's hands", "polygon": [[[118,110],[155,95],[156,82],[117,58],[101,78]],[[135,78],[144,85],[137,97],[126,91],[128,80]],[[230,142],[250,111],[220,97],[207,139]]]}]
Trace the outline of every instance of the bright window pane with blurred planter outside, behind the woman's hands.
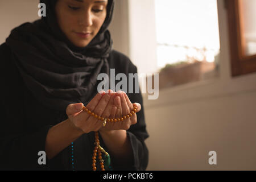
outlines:
[{"label": "bright window pane with blurred planter outside, behind the woman's hands", "polygon": [[159,89],[218,76],[216,0],[155,0]]}]

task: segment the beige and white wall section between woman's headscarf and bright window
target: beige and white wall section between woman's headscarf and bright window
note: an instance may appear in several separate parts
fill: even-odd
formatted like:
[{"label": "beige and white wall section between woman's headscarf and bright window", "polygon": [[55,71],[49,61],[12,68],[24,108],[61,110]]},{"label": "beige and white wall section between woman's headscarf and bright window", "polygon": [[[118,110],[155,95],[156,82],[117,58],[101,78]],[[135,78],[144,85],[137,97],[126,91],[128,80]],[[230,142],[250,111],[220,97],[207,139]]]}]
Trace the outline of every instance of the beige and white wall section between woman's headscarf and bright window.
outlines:
[{"label": "beige and white wall section between woman's headscarf and bright window", "polygon": [[[152,28],[153,27],[153,28]],[[139,73],[157,68],[154,0],[116,0],[110,32],[113,48],[129,56]]]}]

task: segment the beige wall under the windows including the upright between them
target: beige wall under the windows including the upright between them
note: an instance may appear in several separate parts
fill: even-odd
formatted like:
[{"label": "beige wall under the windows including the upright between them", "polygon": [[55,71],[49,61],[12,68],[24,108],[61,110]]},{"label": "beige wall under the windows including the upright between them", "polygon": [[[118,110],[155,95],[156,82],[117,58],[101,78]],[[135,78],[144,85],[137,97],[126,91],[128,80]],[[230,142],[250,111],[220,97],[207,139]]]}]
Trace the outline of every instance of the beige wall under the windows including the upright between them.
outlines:
[{"label": "beige wall under the windows including the upright between them", "polygon": [[[228,20],[218,0],[220,77],[144,96],[148,170],[256,169],[256,73],[231,77]],[[209,165],[209,151],[217,165]]]}]

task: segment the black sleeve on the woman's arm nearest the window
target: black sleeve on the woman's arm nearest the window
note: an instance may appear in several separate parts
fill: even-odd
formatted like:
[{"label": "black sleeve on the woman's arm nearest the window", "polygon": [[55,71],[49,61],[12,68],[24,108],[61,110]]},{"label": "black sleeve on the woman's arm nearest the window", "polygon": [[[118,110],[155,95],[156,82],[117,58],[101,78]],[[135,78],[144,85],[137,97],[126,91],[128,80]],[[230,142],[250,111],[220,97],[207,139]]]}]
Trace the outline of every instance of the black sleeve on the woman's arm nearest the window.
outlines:
[{"label": "black sleeve on the woman's arm nearest the window", "polygon": [[[129,57],[123,55],[122,53],[119,53],[117,51],[114,51],[113,53],[113,60],[115,61],[121,61],[121,63],[113,62],[113,65],[110,64],[110,68],[115,68],[117,72],[123,72],[126,73],[126,76],[128,77],[129,73],[138,73],[137,67],[131,62]],[[119,57],[119,56],[122,56]],[[118,71],[116,65],[122,65],[120,68],[121,70]],[[123,70],[125,69],[125,70]],[[144,143],[144,140],[149,137],[147,130],[146,130],[146,122],[144,117],[144,107],[143,107],[143,98],[141,89],[139,89],[139,93],[136,93],[135,90],[133,90],[133,93],[129,93],[129,80],[127,78],[127,96],[129,97],[131,103],[137,102],[141,104],[141,111],[139,111],[137,114],[137,123],[135,125],[131,125],[130,129],[127,130],[127,137],[129,137],[131,142],[131,147],[133,149],[133,160],[130,164],[127,164],[126,166],[122,166],[121,164],[118,164],[114,161],[114,170],[146,170],[147,164],[148,164],[148,149],[146,147],[146,144]],[[136,88],[136,86],[139,86],[138,80],[133,80],[133,89]],[[116,92],[118,90],[115,90]]]}]

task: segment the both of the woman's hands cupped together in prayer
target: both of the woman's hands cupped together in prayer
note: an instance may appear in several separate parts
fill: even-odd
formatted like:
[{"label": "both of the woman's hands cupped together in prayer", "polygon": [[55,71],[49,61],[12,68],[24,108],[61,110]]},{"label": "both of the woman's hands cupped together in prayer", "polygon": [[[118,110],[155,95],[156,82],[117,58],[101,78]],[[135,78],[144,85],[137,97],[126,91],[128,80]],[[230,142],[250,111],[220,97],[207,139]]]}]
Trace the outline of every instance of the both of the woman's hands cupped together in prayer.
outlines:
[{"label": "both of the woman's hands cupped together in prayer", "polygon": [[[93,99],[86,105],[94,114],[103,118],[121,118],[129,114],[137,106],[137,112],[141,110],[141,105],[138,103],[131,104],[125,92],[118,93],[108,90],[107,93],[102,91],[96,94]],[[137,123],[137,115],[134,113],[131,117],[123,119],[120,122],[108,122],[103,127],[103,121],[96,119],[92,113],[83,111],[84,104],[70,104],[67,107],[66,113],[72,126],[82,131],[82,133],[89,133],[91,131],[106,130],[128,130],[131,125]]]}]

